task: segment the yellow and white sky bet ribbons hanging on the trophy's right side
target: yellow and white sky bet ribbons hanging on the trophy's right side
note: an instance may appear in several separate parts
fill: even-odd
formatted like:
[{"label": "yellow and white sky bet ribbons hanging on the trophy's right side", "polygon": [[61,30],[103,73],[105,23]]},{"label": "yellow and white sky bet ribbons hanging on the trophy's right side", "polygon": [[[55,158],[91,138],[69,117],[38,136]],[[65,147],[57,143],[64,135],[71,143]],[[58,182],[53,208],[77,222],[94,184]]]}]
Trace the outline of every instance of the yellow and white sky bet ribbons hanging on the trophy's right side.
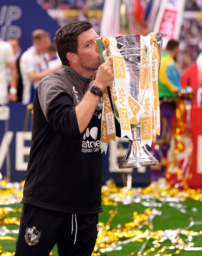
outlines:
[{"label": "yellow and white sky bet ribbons hanging on the trophy's right side", "polygon": [[[158,63],[159,54],[156,44],[156,33],[140,36],[141,48],[147,49],[147,54],[142,52],[140,61],[139,101],[145,112],[140,117],[141,146],[147,144],[151,147],[152,139],[160,133],[160,112],[158,96]],[[144,51],[144,50],[142,50]]]}]

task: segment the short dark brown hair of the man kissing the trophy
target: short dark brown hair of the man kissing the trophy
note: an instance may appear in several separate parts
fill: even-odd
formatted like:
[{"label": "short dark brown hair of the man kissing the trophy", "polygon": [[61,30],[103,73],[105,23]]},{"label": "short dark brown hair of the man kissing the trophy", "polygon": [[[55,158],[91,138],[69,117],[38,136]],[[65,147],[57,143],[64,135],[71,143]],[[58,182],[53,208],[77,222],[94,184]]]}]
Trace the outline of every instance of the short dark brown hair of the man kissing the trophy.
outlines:
[{"label": "short dark brown hair of the man kissing the trophy", "polygon": [[56,45],[62,65],[69,65],[67,53],[78,53],[78,36],[92,27],[93,25],[88,21],[73,21],[57,30],[53,42]]}]

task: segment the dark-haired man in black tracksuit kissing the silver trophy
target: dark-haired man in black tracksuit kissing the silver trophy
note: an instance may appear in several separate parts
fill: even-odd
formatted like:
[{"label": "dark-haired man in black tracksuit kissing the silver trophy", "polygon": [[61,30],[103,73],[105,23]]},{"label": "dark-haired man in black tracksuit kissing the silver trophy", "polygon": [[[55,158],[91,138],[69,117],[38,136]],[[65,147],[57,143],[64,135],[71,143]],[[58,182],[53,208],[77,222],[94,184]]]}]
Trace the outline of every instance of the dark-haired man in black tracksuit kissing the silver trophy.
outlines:
[{"label": "dark-haired man in black tracksuit kissing the silver trophy", "polygon": [[[88,21],[62,26],[54,39],[64,68],[39,83],[16,256],[91,256],[101,208],[102,92],[114,80],[100,65]],[[92,74],[98,70],[96,79]]]}]

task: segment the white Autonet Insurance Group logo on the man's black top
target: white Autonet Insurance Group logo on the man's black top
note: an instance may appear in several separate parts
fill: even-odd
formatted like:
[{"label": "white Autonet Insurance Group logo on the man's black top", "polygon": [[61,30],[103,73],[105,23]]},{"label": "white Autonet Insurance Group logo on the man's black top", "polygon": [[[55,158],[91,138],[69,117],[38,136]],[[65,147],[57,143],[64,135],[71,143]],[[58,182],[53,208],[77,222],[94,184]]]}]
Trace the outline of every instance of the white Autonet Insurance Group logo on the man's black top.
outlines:
[{"label": "white Autonet Insurance Group logo on the man's black top", "polygon": [[86,132],[84,133],[84,136],[83,136],[81,152],[91,153],[91,152],[99,151],[100,150],[100,140],[96,140],[97,136],[98,136],[98,128],[97,127],[92,127],[91,130],[89,130],[89,128],[87,128]]}]

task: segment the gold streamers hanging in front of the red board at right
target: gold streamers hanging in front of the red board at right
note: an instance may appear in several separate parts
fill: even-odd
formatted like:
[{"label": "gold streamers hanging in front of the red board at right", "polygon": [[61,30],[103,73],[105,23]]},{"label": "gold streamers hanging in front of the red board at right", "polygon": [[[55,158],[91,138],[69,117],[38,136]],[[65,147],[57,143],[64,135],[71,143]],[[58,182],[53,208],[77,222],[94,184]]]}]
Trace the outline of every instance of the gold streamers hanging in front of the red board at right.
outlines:
[{"label": "gold streamers hanging in front of the red board at right", "polygon": [[191,124],[187,117],[185,100],[175,100],[175,121],[173,122],[173,136],[168,152],[166,178],[176,188],[188,188],[187,180],[192,178],[190,167],[192,164],[193,143]]}]

